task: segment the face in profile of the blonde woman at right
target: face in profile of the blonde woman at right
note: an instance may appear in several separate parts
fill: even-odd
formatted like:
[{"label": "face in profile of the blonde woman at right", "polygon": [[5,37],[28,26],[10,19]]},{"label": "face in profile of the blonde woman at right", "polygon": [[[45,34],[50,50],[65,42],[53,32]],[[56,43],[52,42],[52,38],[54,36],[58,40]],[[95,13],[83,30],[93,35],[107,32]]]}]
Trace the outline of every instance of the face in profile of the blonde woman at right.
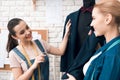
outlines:
[{"label": "face in profile of the blonde woman at right", "polygon": [[94,33],[96,36],[104,35],[106,32],[106,18],[105,16],[99,11],[98,8],[94,8],[92,12],[92,22],[91,26],[94,28]]}]

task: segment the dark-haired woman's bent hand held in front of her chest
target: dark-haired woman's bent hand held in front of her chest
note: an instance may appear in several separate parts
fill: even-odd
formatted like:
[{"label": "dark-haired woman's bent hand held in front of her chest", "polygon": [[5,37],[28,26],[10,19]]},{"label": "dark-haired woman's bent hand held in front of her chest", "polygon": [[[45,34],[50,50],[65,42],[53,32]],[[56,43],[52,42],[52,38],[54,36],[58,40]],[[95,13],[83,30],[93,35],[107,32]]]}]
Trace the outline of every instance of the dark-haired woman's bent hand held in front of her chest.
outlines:
[{"label": "dark-haired woman's bent hand held in front of her chest", "polygon": [[33,65],[32,65],[32,67],[33,67],[34,69],[36,69],[39,63],[45,61],[45,58],[44,58],[44,57],[45,57],[44,54],[38,55],[38,56],[35,58],[35,61],[34,61]]}]

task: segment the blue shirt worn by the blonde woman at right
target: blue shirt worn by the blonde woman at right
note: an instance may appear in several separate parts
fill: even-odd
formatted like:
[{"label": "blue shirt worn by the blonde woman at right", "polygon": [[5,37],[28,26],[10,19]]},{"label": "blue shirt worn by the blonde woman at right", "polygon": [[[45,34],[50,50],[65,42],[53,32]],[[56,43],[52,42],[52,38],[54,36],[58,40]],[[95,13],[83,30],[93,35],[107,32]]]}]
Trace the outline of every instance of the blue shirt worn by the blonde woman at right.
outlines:
[{"label": "blue shirt worn by the blonde woman at right", "polygon": [[91,62],[84,80],[120,80],[120,44],[107,50],[119,39],[120,36],[112,39],[95,53],[102,51],[102,54]]}]

